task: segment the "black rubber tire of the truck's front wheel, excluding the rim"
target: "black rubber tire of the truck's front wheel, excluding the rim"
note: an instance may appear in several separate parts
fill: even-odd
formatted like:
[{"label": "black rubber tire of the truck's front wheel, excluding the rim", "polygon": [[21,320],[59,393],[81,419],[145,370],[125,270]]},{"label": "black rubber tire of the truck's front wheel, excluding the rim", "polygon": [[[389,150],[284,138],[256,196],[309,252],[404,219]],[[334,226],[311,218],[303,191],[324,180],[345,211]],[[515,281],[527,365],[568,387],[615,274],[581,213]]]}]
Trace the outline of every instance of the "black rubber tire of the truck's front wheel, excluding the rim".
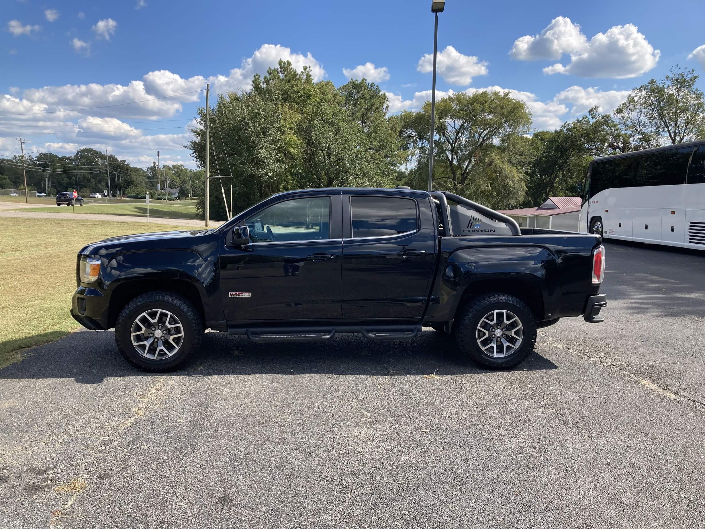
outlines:
[{"label": "black rubber tire of the truck's front wheel, excluding the rim", "polygon": [[[154,360],[145,358],[137,351],[130,339],[130,330],[135,318],[142,312],[157,308],[168,310],[178,317],[184,338],[173,356]],[[115,343],[121,355],[138,369],[152,373],[173,371],[183,366],[200,347],[202,334],[203,325],[198,311],[185,298],[166,291],[140,294],[125,305],[115,324]]]}]

